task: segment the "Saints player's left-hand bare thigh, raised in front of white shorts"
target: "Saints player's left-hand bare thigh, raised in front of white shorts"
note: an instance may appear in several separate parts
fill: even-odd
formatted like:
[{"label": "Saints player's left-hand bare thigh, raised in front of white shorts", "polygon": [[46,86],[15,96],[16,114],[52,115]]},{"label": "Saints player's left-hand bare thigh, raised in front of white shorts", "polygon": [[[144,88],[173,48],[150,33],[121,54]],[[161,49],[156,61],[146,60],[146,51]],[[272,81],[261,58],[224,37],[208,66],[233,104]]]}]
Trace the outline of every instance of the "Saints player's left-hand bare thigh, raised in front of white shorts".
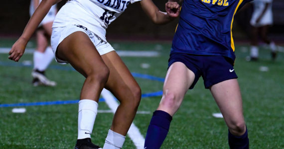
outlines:
[{"label": "Saints player's left-hand bare thigh, raised in front of white shorts", "polygon": [[56,57],[69,62],[85,77],[107,68],[89,36],[81,31],[70,34],[58,45]]}]

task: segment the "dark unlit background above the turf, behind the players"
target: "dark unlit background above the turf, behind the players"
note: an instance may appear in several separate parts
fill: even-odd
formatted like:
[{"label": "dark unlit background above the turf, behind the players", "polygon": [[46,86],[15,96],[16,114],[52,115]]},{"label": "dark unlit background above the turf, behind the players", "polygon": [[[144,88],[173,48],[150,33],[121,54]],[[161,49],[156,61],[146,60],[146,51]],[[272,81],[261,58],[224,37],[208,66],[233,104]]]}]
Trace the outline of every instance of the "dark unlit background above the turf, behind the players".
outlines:
[{"label": "dark unlit background above the turf, behind the players", "polygon": [[[66,0],[59,2],[61,7]],[[167,0],[153,0],[161,11]],[[0,38],[18,37],[22,33],[29,19],[30,0],[1,0],[0,5]],[[249,20],[252,5],[248,4],[237,12],[234,21],[234,38],[245,41],[250,36]],[[284,41],[284,0],[273,1],[274,25],[269,36],[277,42]],[[131,4],[126,11],[115,20],[107,29],[108,39],[142,39],[142,40],[170,40],[178,19],[166,24],[156,25],[143,12],[140,3]]]}]

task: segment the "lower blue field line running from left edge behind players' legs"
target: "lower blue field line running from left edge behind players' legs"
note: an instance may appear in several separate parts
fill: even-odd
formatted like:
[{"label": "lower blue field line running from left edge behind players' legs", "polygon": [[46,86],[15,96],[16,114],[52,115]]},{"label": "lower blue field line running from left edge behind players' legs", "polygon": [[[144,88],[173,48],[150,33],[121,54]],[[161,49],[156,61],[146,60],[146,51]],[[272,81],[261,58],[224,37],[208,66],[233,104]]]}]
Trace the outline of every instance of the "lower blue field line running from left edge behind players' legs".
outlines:
[{"label": "lower blue field line running from left edge behind players' legs", "polygon": [[[144,97],[154,97],[161,96],[162,91],[151,92],[142,94],[142,98]],[[99,102],[104,102],[104,98],[100,98]],[[30,103],[10,103],[10,104],[0,104],[0,108],[3,107],[23,107],[23,106],[43,106],[43,105],[59,105],[59,104],[76,104],[79,100],[66,100],[66,101],[45,101],[45,102],[30,102]]]}]

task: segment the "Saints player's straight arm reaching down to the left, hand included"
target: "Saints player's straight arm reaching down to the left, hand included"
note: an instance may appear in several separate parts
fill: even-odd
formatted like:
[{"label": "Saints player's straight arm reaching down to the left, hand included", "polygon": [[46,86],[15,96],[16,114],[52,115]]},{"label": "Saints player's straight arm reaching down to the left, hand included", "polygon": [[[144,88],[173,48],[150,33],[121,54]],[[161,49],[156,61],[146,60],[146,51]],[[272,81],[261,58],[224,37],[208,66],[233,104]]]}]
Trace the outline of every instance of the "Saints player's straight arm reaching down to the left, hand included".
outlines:
[{"label": "Saints player's straight arm reaching down to the left, hand included", "polygon": [[25,46],[32,34],[36,30],[39,23],[45,17],[51,6],[61,0],[42,0],[38,7],[35,9],[28,23],[26,24],[22,35],[19,39],[13,44],[10,52],[9,59],[15,62],[18,62],[20,57],[23,55]]}]

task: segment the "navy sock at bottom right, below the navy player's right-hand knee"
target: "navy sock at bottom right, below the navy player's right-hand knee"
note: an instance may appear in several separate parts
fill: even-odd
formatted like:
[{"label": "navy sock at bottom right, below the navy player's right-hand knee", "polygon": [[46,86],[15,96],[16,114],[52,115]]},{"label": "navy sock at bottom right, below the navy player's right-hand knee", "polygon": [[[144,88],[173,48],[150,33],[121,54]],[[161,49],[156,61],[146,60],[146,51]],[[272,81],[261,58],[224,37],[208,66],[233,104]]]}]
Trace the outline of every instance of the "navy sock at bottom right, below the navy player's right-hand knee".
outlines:
[{"label": "navy sock at bottom right, below the navy player's right-hand knee", "polygon": [[242,136],[234,136],[229,131],[228,141],[230,149],[249,149],[248,129]]}]

